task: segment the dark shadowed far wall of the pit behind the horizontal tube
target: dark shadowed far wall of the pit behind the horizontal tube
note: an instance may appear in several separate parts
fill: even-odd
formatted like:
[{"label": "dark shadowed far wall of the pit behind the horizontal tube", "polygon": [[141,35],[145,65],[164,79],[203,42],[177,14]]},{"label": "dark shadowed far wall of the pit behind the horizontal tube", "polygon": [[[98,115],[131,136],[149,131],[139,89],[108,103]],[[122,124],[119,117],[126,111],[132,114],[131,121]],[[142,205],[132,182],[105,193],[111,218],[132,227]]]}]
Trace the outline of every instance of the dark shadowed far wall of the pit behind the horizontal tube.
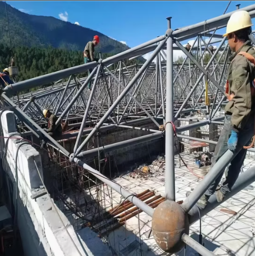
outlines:
[{"label": "dark shadowed far wall of the pit behind the horizontal tube", "polygon": [[[136,127],[159,130],[158,127],[152,122],[135,125]],[[97,146],[110,145],[117,142],[122,142],[123,140],[128,140],[132,138],[137,138],[151,134],[149,131],[142,131],[136,129],[122,128],[119,127],[115,130],[108,130],[106,132],[100,132],[99,140],[97,142],[97,137],[95,136],[93,141],[88,143],[88,148],[93,149]],[[177,141],[177,140],[176,140]],[[60,142],[61,143],[61,142]],[[64,142],[64,148],[69,152],[73,152],[76,139],[70,139]],[[62,144],[62,143],[61,143]],[[63,145],[63,144],[62,144]],[[126,146],[125,148],[107,152],[108,163],[106,165],[104,175],[109,176],[109,171],[125,171],[128,165],[136,162],[146,162],[151,159],[152,156],[158,156],[160,153],[165,152],[165,140],[156,139],[150,142],[140,143],[132,146]],[[103,152],[100,155],[101,159],[104,158]],[[86,158],[86,163],[91,165],[91,167],[98,169],[94,164],[94,157]],[[97,160],[95,161],[98,162]],[[110,167],[109,167],[110,164]],[[123,169],[124,168],[124,169]]]}]

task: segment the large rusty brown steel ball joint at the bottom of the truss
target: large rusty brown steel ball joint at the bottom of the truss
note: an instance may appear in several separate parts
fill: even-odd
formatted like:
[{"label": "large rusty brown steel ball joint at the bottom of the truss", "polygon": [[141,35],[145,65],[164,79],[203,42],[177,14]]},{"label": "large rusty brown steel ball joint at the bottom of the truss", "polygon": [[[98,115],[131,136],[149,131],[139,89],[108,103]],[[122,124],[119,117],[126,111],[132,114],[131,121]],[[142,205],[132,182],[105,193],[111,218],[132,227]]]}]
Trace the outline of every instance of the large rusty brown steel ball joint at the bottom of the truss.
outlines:
[{"label": "large rusty brown steel ball joint at the bottom of the truss", "polygon": [[189,233],[188,217],[180,204],[169,200],[160,203],[152,216],[152,232],[163,251],[179,252],[184,247],[182,235]]}]

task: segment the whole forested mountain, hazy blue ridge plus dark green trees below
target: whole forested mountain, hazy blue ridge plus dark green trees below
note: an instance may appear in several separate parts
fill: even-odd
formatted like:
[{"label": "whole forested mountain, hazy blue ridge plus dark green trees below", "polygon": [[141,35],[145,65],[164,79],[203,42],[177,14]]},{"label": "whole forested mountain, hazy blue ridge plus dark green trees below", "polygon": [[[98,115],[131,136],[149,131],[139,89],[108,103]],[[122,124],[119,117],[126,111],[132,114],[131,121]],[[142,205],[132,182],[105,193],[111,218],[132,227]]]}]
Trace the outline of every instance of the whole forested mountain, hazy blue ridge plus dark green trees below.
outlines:
[{"label": "whole forested mountain, hazy blue ridge plus dark green trees below", "polygon": [[[17,81],[60,71],[84,63],[83,50],[94,35],[99,35],[100,44],[95,48],[95,56],[106,59],[129,49],[126,44],[110,39],[98,31],[84,28],[54,17],[29,15],[7,4],[8,23],[5,3],[0,1],[0,71],[10,66],[11,50],[15,56],[15,65],[19,68]],[[145,59],[128,61],[125,65],[143,63]],[[116,65],[110,69],[116,68]],[[87,73],[80,74],[85,76]]]}]

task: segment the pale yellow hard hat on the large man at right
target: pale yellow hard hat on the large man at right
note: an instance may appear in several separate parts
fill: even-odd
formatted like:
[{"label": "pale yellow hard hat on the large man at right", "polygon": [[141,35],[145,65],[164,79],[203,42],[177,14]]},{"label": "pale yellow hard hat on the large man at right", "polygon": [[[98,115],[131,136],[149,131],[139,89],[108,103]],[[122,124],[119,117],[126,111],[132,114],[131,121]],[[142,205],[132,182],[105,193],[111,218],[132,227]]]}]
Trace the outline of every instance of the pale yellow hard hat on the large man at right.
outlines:
[{"label": "pale yellow hard hat on the large man at right", "polygon": [[226,34],[223,37],[240,29],[249,28],[252,25],[249,12],[235,11],[227,22]]}]

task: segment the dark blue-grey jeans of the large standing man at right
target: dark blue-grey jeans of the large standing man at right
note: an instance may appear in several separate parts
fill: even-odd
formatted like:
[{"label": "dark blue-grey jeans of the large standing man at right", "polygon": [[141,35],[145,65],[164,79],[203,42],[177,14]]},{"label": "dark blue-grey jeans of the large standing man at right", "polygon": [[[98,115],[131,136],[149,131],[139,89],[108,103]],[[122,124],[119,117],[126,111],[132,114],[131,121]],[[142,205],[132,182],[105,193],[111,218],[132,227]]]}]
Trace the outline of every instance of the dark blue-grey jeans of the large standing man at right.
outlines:
[{"label": "dark blue-grey jeans of the large standing man at right", "polygon": [[[233,187],[234,183],[238,178],[238,175],[241,171],[241,167],[244,163],[244,159],[247,152],[246,149],[243,149],[243,146],[250,144],[253,134],[254,134],[254,117],[250,118],[250,120],[247,121],[247,125],[245,129],[239,132],[237,147],[241,148],[241,150],[236,155],[236,157],[234,157],[234,159],[231,161],[230,165],[228,165],[227,167],[226,178],[220,185],[220,191],[221,193],[223,193],[223,195],[226,195],[226,193],[231,191],[231,188]],[[220,137],[215,147],[214,155],[212,157],[211,168],[219,160],[219,158],[223,156],[224,153],[228,150],[227,141],[230,138],[230,135],[231,135],[231,116],[226,115],[224,119],[223,130],[220,133]],[[220,183],[220,180],[223,174],[224,174],[224,170],[221,172],[219,177],[211,184],[211,186],[207,189],[205,193],[206,196],[213,195],[218,184]]]}]

